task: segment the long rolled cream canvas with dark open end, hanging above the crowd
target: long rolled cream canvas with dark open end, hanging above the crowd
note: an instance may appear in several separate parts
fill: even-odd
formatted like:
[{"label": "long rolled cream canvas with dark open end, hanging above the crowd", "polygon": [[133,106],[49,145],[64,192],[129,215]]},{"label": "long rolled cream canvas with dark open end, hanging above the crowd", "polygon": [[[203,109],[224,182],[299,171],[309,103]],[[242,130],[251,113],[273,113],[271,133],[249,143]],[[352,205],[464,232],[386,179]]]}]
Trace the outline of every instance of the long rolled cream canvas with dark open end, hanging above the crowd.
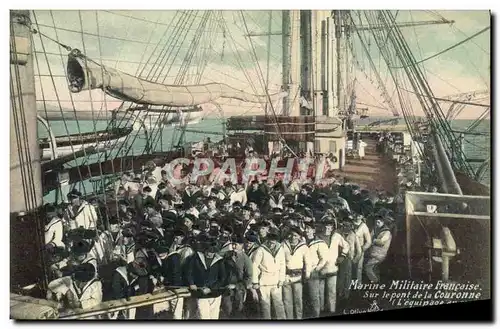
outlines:
[{"label": "long rolled cream canvas with dark open end, hanging above the crowd", "polygon": [[[210,103],[219,98],[237,99],[265,104],[267,95],[253,95],[223,83],[201,85],[166,85],[147,81],[116,69],[99,65],[73,51],[68,56],[70,90],[78,93],[84,89],[102,89],[108,95],[137,104],[165,105],[172,107],[194,106]],[[280,92],[270,95],[276,102],[287,95]]]}]

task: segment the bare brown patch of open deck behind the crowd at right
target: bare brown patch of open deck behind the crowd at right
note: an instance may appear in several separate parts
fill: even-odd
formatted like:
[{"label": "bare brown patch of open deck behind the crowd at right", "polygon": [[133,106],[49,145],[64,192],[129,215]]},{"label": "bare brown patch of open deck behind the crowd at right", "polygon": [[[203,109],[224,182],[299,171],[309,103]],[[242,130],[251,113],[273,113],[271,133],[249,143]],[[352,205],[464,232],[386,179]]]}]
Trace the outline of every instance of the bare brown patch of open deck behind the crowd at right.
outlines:
[{"label": "bare brown patch of open deck behind the crowd at right", "polygon": [[394,162],[376,151],[375,140],[367,139],[364,142],[368,144],[364,159],[346,159],[344,168],[337,171],[336,175],[358,184],[362,189],[395,194],[397,174]]}]

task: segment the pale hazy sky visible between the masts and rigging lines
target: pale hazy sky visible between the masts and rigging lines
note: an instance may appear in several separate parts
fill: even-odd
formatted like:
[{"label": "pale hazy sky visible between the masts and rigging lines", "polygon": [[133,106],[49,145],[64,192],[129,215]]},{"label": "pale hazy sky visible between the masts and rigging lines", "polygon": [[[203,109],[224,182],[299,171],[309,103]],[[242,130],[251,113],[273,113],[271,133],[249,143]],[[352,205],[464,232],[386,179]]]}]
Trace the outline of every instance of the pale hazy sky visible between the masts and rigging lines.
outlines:
[{"label": "pale hazy sky visible between the masts and rigging lines", "polygon": [[[490,25],[488,11],[400,10],[392,13],[397,14],[398,23],[431,21],[442,17],[455,21],[453,25],[401,28],[417,61]],[[89,58],[104,65],[157,82],[223,82],[258,94],[265,93],[268,76],[270,92],[278,91],[281,85],[281,36],[252,37],[251,42],[250,38],[245,37],[248,32],[280,31],[281,11],[46,10],[35,11],[32,21],[38,24],[38,29],[46,36],[34,35],[37,51],[35,63],[38,64],[35,66],[35,75],[37,98],[47,100],[49,105],[57,105],[58,99],[63,107],[71,109],[74,104],[77,110],[106,110],[120,105],[120,102],[105,97],[99,90],[70,95],[64,70],[68,52],[59,47],[55,40],[80,49]],[[57,33],[54,26],[58,28]],[[197,51],[192,52],[189,48],[196,34],[201,38]],[[363,34],[365,38],[367,35]],[[370,54],[387,86],[388,94],[397,98],[394,83],[388,77],[373,37],[366,40],[369,40]],[[392,115],[357,37],[353,38],[353,48],[353,58],[358,62],[353,66],[358,106],[368,107],[371,116]],[[187,55],[191,56],[191,65],[184,78],[180,79],[178,72]],[[420,67],[436,97],[489,90],[490,31],[425,61]],[[203,72],[201,78],[200,72]],[[416,97],[410,96],[409,100],[413,113],[422,115]],[[477,102],[489,104],[489,99]],[[395,103],[399,104],[397,100]],[[440,104],[446,112],[449,103]],[[42,105],[39,103],[39,106]],[[224,100],[219,105],[224,116],[264,113],[263,106],[240,101]],[[204,109],[206,115],[220,115],[215,106],[206,105]],[[459,118],[476,118],[483,111],[484,108],[467,106]]]}]

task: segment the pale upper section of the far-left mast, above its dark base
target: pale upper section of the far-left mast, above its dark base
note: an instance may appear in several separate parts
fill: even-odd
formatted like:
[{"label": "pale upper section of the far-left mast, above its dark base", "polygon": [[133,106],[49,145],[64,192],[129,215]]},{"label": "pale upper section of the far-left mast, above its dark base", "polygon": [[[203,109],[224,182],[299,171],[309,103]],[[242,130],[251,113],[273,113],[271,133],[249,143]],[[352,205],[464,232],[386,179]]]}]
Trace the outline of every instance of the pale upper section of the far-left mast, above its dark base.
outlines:
[{"label": "pale upper section of the far-left mast, above its dark base", "polygon": [[10,40],[10,211],[42,205],[42,176],[29,10],[12,10]]}]

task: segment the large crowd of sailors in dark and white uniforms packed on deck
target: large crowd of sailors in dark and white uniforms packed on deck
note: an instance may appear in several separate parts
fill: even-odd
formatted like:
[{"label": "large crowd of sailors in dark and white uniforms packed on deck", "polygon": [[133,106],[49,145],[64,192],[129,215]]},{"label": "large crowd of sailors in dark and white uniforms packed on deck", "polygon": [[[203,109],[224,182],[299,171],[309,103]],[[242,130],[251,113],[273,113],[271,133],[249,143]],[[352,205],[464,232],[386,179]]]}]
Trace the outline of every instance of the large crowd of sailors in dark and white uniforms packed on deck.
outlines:
[{"label": "large crowd of sailors in dark and white uniforms packed on deck", "polygon": [[162,287],[191,296],[99,316],[107,319],[339,313],[353,280],[380,281],[396,218],[394,195],[347,180],[175,186],[151,164],[116,191],[114,215],[77,190],[46,206],[47,297],[88,309]]}]

